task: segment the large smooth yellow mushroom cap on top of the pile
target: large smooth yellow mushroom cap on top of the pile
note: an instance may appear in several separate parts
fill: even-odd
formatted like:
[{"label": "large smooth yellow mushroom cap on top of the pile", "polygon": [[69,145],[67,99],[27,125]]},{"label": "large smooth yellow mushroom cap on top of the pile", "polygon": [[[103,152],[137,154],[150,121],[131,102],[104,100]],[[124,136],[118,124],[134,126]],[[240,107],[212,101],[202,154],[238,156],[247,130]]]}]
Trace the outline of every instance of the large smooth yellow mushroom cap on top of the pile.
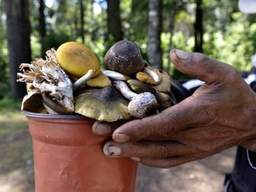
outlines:
[{"label": "large smooth yellow mushroom cap on top of the pile", "polygon": [[94,53],[84,44],[67,42],[57,49],[56,58],[59,65],[74,76],[84,76],[88,70],[94,69],[94,76],[100,73],[100,62]]}]

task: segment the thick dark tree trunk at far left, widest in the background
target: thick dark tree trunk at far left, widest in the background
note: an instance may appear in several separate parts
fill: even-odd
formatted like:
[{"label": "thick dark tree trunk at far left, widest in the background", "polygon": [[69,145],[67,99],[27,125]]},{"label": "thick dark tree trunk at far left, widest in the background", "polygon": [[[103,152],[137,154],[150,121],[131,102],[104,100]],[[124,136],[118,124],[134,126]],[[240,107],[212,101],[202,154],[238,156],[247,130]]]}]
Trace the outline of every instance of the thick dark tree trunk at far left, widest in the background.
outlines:
[{"label": "thick dark tree trunk at far left, widest in the background", "polygon": [[28,0],[5,0],[7,41],[9,48],[10,81],[14,99],[26,94],[25,84],[16,82],[21,63],[31,61]]}]

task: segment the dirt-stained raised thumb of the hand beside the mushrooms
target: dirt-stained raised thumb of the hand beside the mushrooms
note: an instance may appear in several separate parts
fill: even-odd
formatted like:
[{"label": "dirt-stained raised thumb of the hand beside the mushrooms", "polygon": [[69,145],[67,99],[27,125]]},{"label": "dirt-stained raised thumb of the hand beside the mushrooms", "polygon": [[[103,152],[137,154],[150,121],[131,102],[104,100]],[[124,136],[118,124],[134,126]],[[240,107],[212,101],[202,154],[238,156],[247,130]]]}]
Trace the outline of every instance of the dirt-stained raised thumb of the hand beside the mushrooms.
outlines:
[{"label": "dirt-stained raised thumb of the hand beside the mushrooms", "polygon": [[197,79],[206,82],[206,84],[223,81],[228,71],[230,71],[230,68],[232,68],[202,53],[172,50],[170,52],[170,58],[179,71],[187,75],[195,76]]}]

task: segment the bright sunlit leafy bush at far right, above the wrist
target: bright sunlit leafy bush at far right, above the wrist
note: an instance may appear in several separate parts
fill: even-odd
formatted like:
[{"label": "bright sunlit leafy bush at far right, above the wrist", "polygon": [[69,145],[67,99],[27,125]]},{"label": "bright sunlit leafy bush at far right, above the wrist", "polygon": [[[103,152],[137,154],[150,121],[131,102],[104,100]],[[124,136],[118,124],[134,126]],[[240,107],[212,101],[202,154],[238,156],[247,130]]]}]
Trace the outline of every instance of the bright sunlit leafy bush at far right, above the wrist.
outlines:
[{"label": "bright sunlit leafy bush at far right, above the wrist", "polygon": [[246,21],[240,12],[231,15],[233,22],[225,31],[209,29],[204,34],[205,54],[233,65],[237,70],[249,70],[251,56],[256,52],[256,23]]}]

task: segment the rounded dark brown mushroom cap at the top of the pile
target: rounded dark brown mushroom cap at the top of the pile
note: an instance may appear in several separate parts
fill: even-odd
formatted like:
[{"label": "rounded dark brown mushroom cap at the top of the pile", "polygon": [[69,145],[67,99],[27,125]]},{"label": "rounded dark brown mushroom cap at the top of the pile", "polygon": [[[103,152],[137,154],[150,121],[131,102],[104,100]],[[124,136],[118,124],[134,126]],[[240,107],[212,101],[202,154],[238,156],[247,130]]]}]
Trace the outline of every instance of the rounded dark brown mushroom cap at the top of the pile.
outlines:
[{"label": "rounded dark brown mushroom cap at the top of the pile", "polygon": [[116,42],[106,53],[104,60],[109,70],[125,75],[141,71],[145,66],[139,47],[128,40]]}]

